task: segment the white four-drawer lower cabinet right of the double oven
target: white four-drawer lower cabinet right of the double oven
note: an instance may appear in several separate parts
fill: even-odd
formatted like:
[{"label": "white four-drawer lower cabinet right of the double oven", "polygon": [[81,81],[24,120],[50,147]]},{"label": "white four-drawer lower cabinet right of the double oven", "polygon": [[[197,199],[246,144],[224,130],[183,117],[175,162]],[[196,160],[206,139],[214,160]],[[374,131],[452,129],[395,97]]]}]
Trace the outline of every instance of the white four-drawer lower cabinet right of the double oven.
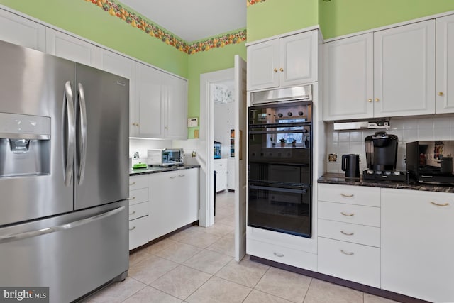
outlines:
[{"label": "white four-drawer lower cabinet right of the double oven", "polygon": [[380,188],[318,186],[318,271],[380,288]]}]

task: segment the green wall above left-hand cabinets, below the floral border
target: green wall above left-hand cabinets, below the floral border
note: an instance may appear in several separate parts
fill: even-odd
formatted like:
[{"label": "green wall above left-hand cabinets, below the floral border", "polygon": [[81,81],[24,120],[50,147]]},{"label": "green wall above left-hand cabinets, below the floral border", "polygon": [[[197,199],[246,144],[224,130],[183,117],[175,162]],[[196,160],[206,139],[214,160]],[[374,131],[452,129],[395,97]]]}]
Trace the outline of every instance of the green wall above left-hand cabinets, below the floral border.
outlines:
[{"label": "green wall above left-hand cabinets, below the floral border", "polygon": [[176,75],[186,78],[189,75],[186,53],[128,26],[121,18],[109,15],[91,1],[0,0],[0,4]]}]

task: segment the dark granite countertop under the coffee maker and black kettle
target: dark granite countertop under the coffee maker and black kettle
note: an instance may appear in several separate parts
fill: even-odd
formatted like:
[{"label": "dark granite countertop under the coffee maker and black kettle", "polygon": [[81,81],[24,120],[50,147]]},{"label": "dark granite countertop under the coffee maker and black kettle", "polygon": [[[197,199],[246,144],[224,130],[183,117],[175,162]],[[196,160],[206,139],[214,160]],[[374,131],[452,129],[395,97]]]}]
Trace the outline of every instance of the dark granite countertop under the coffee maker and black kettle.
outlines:
[{"label": "dark granite countertop under the coffee maker and black kettle", "polygon": [[341,184],[341,185],[355,185],[355,186],[369,186],[381,188],[396,188],[396,189],[412,189],[423,190],[426,192],[454,192],[454,186],[450,185],[432,185],[432,184],[411,184],[406,182],[394,181],[371,181],[362,180],[359,178],[348,178],[344,174],[326,173],[319,177],[318,183],[326,184]]}]

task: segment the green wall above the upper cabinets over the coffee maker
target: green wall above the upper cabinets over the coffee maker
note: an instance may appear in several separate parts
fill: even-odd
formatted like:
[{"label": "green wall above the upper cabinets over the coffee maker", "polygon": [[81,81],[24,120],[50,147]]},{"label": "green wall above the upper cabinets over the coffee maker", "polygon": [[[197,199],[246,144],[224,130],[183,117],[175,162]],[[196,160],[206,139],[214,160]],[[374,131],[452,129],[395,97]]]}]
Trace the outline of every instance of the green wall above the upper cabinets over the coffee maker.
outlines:
[{"label": "green wall above the upper cabinets over the coffee maker", "polygon": [[454,10],[453,0],[331,0],[320,4],[325,39]]}]

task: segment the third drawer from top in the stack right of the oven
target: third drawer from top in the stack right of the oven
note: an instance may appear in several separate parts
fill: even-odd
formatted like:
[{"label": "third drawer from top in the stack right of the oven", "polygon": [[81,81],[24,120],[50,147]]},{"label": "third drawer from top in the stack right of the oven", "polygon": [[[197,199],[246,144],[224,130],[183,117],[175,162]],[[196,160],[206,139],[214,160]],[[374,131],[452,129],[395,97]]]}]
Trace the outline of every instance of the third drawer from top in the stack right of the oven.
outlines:
[{"label": "third drawer from top in the stack right of the oven", "polygon": [[380,247],[380,228],[319,219],[319,236]]}]

